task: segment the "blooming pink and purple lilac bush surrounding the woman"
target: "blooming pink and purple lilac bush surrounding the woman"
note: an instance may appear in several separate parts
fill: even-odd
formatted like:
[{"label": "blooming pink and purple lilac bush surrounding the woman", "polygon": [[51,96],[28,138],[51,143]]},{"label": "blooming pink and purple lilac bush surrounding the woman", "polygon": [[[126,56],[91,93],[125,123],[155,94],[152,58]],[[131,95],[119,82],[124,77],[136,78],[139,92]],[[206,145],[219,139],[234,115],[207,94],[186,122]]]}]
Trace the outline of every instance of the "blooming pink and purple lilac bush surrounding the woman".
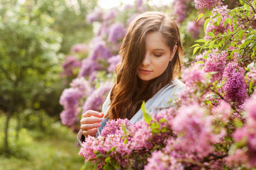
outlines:
[{"label": "blooming pink and purple lilac bush surrounding the woman", "polygon": [[[233,9],[222,3],[179,0],[172,3],[175,10],[161,8],[184,24],[182,37],[185,31],[202,37],[189,54],[195,60],[182,69],[187,88],[173,101],[174,108],[154,115],[143,109],[144,119],[138,123],[109,120],[99,137],[85,139],[79,152],[85,160],[82,169],[256,168],[256,1],[244,0]],[[200,11],[193,11],[198,16],[189,21],[192,5]],[[154,8],[136,1],[123,11],[105,14],[98,8],[87,16],[89,23],[100,26],[88,46],[72,49],[81,66],[70,62],[69,72],[78,78],[60,98],[63,124],[73,125],[89,109],[101,110],[121,60],[120,40],[143,9]],[[86,46],[91,50],[82,50]]]}]

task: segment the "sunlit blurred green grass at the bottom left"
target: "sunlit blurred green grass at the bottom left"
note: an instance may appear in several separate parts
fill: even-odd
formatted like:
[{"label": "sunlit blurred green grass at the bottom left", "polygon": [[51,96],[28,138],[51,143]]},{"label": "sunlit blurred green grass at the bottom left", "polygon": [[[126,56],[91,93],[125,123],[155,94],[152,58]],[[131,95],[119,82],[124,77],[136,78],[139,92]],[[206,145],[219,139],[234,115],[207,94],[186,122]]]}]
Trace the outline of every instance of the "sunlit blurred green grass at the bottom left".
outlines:
[{"label": "sunlit blurred green grass at the bottom left", "polygon": [[[0,145],[3,145],[3,116],[0,119]],[[52,123],[45,132],[23,128],[18,142],[13,142],[14,124],[12,120],[9,135],[11,148],[16,149],[13,157],[0,154],[0,170],[81,169],[84,159],[78,155],[80,147],[71,130],[60,123]]]}]

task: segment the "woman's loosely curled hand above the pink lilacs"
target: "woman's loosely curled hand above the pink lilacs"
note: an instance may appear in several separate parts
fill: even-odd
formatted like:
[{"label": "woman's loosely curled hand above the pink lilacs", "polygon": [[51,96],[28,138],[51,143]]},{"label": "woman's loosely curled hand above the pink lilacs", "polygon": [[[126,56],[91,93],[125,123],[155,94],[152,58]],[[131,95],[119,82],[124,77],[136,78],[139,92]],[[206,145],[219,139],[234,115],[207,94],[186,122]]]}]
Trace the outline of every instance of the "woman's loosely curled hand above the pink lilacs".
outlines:
[{"label": "woman's loosely curled hand above the pink lilacs", "polygon": [[97,128],[101,127],[101,121],[104,113],[99,113],[96,111],[87,111],[83,113],[82,119],[80,120],[80,129],[84,137],[95,136]]}]

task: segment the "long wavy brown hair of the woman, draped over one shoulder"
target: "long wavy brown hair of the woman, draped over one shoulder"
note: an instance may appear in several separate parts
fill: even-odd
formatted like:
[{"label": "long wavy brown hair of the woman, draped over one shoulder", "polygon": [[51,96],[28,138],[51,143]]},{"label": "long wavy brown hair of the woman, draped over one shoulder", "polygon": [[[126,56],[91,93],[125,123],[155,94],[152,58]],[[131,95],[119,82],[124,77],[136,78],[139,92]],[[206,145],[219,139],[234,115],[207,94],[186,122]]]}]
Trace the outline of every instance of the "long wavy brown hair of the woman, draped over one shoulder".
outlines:
[{"label": "long wavy brown hair of the woman, draped over one shoulder", "polygon": [[[137,71],[145,57],[145,35],[158,31],[162,33],[171,52],[177,45],[176,53],[167,69],[159,77],[149,81],[143,89]],[[116,83],[111,90],[111,103],[105,118],[130,118],[140,109],[143,101],[148,101],[172,79],[180,74],[182,43],[177,24],[161,12],[145,12],[130,23],[128,33],[123,39],[119,54],[121,62],[116,66]]]}]

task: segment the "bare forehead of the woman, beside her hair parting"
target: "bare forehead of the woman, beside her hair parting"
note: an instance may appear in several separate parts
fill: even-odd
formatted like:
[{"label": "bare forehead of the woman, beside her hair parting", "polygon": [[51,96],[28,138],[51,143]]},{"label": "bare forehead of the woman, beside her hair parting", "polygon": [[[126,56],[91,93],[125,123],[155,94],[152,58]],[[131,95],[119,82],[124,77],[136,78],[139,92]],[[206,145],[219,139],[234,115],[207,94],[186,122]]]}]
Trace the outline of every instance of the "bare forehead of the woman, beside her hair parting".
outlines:
[{"label": "bare forehead of the woman, beside her hair parting", "polygon": [[165,38],[160,32],[151,32],[145,36],[145,47],[147,50],[163,49],[170,50]]}]

